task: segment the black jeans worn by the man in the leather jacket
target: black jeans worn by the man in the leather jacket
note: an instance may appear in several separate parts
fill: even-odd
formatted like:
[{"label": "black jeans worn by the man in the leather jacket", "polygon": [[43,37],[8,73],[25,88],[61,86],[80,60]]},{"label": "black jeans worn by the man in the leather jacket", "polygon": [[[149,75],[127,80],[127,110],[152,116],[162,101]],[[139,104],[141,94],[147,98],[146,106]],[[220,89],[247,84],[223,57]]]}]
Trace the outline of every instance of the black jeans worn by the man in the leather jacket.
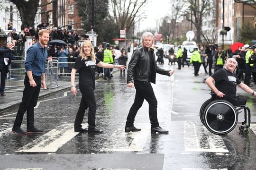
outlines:
[{"label": "black jeans worn by the man in the leather jacket", "polygon": [[127,127],[134,126],[134,119],[137,114],[137,111],[141,108],[144,99],[148,102],[149,108],[149,119],[151,123],[151,127],[159,127],[159,123],[157,120],[157,100],[155,98],[155,93],[150,82],[141,82],[134,80],[134,86],[136,88],[136,94],[134,103],[132,104],[126,121]]}]

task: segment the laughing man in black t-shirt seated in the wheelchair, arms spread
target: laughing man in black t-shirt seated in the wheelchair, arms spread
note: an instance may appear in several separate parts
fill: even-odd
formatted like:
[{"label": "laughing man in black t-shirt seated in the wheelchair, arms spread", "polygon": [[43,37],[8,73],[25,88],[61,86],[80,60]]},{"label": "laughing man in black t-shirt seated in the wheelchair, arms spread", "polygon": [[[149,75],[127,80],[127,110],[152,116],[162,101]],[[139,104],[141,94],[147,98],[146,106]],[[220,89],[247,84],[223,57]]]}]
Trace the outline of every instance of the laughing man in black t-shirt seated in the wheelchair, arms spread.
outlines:
[{"label": "laughing man in black t-shirt seated in the wheelchair, arms spread", "polygon": [[[256,97],[256,92],[242,83],[235,75],[237,61],[234,58],[229,58],[226,62],[226,66],[223,69],[216,71],[213,75],[209,76],[205,83],[210,87],[213,93],[212,99],[214,100],[227,100],[234,106],[245,105],[246,99],[236,96],[237,85],[247,93]],[[214,84],[215,81],[215,84]]]}]

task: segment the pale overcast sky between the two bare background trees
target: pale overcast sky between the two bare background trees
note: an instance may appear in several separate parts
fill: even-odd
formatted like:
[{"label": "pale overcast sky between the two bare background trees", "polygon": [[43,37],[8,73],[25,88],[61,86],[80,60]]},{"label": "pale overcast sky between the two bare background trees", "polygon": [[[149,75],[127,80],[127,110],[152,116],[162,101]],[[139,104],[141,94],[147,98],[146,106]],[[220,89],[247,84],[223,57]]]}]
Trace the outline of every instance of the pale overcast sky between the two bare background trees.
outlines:
[{"label": "pale overcast sky between the two bare background trees", "polygon": [[157,18],[164,17],[168,14],[168,10],[171,8],[172,0],[150,0],[151,2],[146,5],[145,13],[147,18],[140,22],[139,30],[144,31],[148,28],[156,27]]}]

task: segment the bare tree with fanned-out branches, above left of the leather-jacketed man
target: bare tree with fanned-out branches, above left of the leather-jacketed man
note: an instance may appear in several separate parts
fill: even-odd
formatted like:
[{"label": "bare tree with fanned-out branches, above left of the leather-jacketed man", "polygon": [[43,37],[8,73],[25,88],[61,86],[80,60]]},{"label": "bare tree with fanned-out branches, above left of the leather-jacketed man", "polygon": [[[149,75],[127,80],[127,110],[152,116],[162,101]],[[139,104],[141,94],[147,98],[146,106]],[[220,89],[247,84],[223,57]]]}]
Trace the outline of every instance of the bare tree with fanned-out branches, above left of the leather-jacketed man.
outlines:
[{"label": "bare tree with fanned-out branches, above left of the leather-jacketed man", "polygon": [[147,0],[111,0],[114,22],[119,30],[126,28],[128,32],[134,23],[145,18],[141,9],[146,4]]}]

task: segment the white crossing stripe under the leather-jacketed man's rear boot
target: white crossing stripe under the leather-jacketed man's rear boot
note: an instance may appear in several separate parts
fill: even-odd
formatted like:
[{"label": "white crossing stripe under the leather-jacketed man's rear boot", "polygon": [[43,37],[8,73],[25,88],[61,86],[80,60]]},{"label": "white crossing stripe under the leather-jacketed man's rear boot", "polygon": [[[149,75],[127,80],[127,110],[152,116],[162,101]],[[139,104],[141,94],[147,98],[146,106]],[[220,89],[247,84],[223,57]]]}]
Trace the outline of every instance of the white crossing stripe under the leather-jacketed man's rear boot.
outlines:
[{"label": "white crossing stripe under the leather-jacketed man's rear boot", "polygon": [[[142,123],[138,124],[138,127],[143,127],[138,132],[125,132],[124,127],[115,130],[110,136],[105,146],[101,151],[112,151],[112,152],[140,152],[147,141],[147,137],[150,133],[150,124]],[[111,146],[111,147],[110,147]]]}]

